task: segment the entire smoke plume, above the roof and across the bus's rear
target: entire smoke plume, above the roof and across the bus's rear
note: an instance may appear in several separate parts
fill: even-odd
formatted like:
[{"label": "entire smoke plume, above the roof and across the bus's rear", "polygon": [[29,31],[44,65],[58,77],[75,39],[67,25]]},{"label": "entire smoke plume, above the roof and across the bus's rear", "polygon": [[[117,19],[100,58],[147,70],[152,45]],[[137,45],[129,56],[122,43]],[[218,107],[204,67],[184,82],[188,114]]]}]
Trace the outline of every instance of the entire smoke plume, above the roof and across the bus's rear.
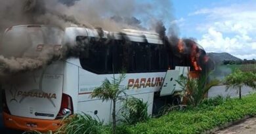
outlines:
[{"label": "entire smoke plume, above the roof and across the bus's rear", "polygon": [[[97,27],[99,35],[102,35],[102,29],[121,31],[122,28],[128,27],[154,30],[164,42],[171,45],[174,52],[176,52],[177,43],[179,42],[177,27],[173,27],[173,25],[169,27],[171,37],[168,39],[167,28],[163,25],[163,22],[170,23],[174,20],[172,4],[168,0],[161,2],[153,0],[152,3],[139,0],[0,1],[0,20],[0,37],[3,36],[4,30],[12,25],[43,24],[53,25],[63,30],[64,27],[74,24],[81,27]],[[16,45],[0,44],[0,76],[32,71],[53,61],[68,58],[68,56],[79,56],[85,43],[62,44],[62,49],[56,51],[53,44],[61,44],[61,41],[46,41],[51,37],[61,37],[61,34],[59,34],[53,31],[45,31],[43,34],[44,41],[32,42],[37,41],[33,39],[32,32],[28,33],[31,39],[30,42],[16,39],[16,42],[12,42]],[[59,39],[61,39],[60,37]],[[39,44],[44,44],[42,50],[38,48]],[[184,48],[186,48],[184,54],[191,50],[188,46],[184,43]],[[178,50],[175,54],[179,55]]]}]

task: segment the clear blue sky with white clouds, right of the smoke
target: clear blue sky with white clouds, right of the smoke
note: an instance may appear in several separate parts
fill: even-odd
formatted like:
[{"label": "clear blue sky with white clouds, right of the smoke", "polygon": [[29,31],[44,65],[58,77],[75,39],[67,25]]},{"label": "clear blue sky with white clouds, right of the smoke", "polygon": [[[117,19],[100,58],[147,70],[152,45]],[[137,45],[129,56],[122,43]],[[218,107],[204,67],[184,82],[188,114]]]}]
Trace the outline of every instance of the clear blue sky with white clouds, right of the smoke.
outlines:
[{"label": "clear blue sky with white clouds, right of the smoke", "polygon": [[173,0],[179,37],[193,37],[206,52],[256,59],[256,1]]}]

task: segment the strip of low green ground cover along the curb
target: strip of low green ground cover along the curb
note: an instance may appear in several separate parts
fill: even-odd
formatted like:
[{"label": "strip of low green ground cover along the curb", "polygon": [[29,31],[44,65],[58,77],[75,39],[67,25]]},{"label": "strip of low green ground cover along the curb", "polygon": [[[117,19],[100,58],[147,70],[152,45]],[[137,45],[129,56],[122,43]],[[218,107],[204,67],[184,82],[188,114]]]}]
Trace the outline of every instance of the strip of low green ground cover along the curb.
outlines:
[{"label": "strip of low green ground cover along the curb", "polygon": [[205,101],[198,107],[175,110],[160,118],[127,127],[127,133],[200,133],[207,129],[256,114],[256,94],[242,99]]}]

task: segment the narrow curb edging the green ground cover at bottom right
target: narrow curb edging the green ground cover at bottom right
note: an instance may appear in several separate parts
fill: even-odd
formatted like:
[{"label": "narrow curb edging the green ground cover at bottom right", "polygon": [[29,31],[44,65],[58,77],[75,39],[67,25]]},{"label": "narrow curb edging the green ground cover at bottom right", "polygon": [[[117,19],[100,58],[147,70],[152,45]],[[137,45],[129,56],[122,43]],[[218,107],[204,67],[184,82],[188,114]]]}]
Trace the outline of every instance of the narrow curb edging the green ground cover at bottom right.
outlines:
[{"label": "narrow curb edging the green ground cover at bottom right", "polygon": [[206,131],[202,131],[200,134],[215,133],[216,131],[219,131],[219,130],[224,129],[224,128],[226,128],[226,127],[230,127],[230,126],[239,124],[240,122],[244,122],[244,121],[247,120],[248,118],[252,118],[252,117],[254,117],[254,116],[246,115],[246,116],[244,116],[243,118],[240,118],[240,119],[238,119],[238,120],[234,120],[234,121],[232,121],[232,122],[227,122],[226,124],[223,124],[222,126],[218,126],[218,127],[213,128],[213,129],[209,129],[209,130],[206,130]]}]

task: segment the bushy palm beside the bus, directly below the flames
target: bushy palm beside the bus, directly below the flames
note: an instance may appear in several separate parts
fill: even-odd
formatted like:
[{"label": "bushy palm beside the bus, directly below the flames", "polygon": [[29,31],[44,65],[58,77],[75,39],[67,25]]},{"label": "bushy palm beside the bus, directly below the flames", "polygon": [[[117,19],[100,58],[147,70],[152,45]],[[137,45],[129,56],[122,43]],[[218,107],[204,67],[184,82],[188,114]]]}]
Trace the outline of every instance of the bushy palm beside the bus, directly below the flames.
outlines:
[{"label": "bushy palm beside the bus, directly below the flames", "polygon": [[181,75],[180,80],[177,80],[178,84],[185,91],[184,97],[188,98],[190,105],[197,106],[203,99],[205,99],[205,94],[213,86],[219,84],[219,80],[211,80],[207,82],[209,74],[201,75],[200,78],[191,78],[190,76]]}]

